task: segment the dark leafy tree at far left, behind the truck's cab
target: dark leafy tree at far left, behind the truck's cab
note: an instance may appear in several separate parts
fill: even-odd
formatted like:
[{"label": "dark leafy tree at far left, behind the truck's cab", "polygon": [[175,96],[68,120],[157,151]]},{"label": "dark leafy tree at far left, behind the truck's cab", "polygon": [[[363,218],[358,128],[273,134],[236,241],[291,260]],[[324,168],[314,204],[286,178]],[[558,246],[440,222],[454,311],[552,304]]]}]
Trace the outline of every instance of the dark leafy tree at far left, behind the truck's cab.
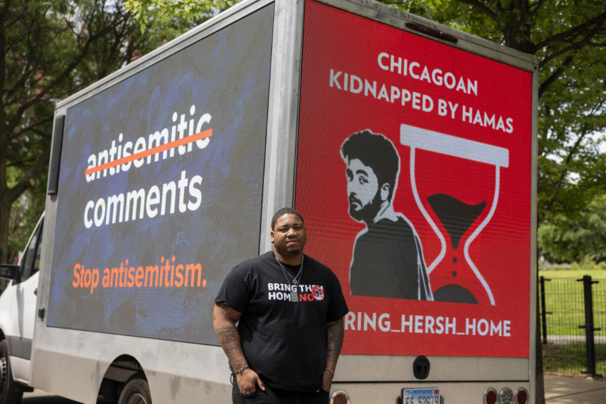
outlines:
[{"label": "dark leafy tree at far left, behind the truck's cab", "polygon": [[110,0],[5,0],[0,7],[0,260],[5,261],[24,247],[20,243],[31,231],[17,231],[25,224],[19,218],[35,224],[32,217],[44,209],[39,201],[44,201],[55,101],[190,25],[173,19],[142,35],[124,5]]}]

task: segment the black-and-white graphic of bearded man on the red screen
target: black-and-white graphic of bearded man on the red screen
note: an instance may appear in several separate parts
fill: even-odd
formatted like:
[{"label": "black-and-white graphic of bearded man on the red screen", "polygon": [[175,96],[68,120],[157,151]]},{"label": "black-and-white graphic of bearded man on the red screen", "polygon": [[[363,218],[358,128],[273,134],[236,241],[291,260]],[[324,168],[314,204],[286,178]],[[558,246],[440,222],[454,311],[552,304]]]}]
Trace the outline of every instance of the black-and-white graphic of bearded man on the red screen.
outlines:
[{"label": "black-and-white graphic of bearded man on the red screen", "polygon": [[393,209],[400,172],[393,143],[364,130],[345,139],[341,157],[347,164],[349,215],[366,224],[353,246],[351,294],[433,300],[415,227]]}]

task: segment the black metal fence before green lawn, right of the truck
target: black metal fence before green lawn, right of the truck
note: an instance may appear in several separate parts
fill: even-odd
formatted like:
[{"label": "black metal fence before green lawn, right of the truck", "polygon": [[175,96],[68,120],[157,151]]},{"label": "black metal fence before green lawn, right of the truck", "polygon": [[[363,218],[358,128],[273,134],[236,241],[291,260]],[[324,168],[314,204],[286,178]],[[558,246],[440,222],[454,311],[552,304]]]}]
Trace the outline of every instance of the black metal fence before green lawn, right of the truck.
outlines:
[{"label": "black metal fence before green lawn, right of the truck", "polygon": [[543,367],[606,374],[606,279],[539,278]]}]

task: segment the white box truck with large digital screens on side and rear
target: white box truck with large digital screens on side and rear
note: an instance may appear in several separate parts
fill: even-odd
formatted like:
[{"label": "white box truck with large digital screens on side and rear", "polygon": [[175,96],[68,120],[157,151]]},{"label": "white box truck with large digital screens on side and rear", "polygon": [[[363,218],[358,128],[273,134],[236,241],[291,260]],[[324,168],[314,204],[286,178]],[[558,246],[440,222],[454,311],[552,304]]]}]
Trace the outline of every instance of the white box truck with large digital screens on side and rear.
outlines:
[{"label": "white box truck with large digital screens on side and rear", "polygon": [[371,0],[247,0],[60,101],[2,403],[229,402],[213,299],[282,206],[350,308],[332,402],[533,402],[537,66]]}]

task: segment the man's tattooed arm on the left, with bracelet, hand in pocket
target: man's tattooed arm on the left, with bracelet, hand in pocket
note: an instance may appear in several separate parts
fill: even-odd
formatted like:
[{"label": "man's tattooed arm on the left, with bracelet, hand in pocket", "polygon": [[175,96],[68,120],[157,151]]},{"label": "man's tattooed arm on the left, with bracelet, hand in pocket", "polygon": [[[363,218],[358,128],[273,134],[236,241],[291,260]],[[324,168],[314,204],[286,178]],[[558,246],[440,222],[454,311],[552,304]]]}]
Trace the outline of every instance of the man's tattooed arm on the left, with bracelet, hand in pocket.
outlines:
[{"label": "man's tattooed arm on the left, with bracelet, hand in pocket", "polygon": [[[240,345],[240,335],[236,328],[236,322],[242,317],[242,313],[235,311],[225,303],[216,303],[215,311],[213,312],[213,323],[215,325],[215,333],[219,338],[221,348],[225,351],[227,359],[231,363],[231,367],[234,370],[242,369],[248,365],[244,352],[242,352],[242,346]],[[238,381],[238,387],[242,394],[251,394],[255,392],[256,385],[262,390],[265,390],[265,386],[259,375],[253,369],[245,369],[244,372],[236,375]]]}]

